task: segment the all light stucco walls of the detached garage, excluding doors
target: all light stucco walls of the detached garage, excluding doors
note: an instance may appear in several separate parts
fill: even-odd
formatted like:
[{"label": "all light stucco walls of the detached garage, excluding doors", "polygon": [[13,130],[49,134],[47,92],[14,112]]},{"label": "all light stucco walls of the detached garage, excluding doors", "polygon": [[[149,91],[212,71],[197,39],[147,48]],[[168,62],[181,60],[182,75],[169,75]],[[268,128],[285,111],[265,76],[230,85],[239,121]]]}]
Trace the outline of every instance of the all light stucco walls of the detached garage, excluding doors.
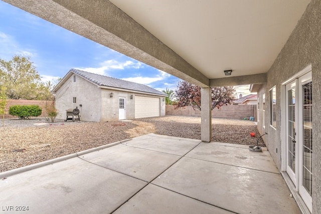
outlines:
[{"label": "all light stucco walls of the detached garage, excluding doors", "polygon": [[[156,97],[160,99],[160,115],[165,116],[164,96],[147,95],[143,93],[100,88],[84,78],[71,75],[56,92],[56,108],[59,111],[58,119],[66,119],[66,110],[80,109],[81,120],[93,122],[106,122],[119,120],[119,97],[125,98],[126,119],[135,118],[135,96]],[[113,96],[110,97],[110,93]],[[133,96],[130,99],[130,96]],[[76,97],[76,103],[73,103]],[[81,106],[80,106],[81,104]]]}]

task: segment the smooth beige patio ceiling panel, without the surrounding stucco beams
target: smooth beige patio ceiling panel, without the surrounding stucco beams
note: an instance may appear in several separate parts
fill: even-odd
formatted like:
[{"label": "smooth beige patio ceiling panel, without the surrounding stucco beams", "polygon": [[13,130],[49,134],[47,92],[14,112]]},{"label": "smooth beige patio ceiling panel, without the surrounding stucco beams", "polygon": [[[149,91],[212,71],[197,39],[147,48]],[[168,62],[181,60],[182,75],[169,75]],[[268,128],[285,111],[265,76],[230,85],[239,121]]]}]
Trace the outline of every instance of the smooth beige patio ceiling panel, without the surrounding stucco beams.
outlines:
[{"label": "smooth beige patio ceiling panel, without the surrounding stucco beams", "polygon": [[309,0],[110,0],[209,79],[266,73]]}]

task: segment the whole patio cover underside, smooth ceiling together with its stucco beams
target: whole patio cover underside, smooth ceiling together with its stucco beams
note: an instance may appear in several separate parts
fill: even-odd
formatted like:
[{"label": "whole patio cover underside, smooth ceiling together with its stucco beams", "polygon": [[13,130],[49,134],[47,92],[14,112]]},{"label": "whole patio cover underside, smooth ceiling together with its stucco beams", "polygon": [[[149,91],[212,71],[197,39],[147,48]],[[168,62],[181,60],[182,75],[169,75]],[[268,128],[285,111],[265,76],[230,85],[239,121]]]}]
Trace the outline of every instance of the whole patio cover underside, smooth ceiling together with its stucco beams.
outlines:
[{"label": "whole patio cover underside, smooth ceiling together with its stucco beams", "polygon": [[310,2],[4,1],[201,87],[265,82]]}]

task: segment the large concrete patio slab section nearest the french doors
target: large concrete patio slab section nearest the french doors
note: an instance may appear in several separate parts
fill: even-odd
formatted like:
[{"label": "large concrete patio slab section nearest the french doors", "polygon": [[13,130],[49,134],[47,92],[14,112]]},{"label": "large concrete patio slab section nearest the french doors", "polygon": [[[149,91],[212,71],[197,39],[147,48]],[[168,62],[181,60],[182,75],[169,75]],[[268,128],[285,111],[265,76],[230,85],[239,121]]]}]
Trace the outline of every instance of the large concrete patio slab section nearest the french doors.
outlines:
[{"label": "large concrete patio slab section nearest the french doors", "polygon": [[271,172],[183,157],[152,183],[236,213],[301,213]]}]

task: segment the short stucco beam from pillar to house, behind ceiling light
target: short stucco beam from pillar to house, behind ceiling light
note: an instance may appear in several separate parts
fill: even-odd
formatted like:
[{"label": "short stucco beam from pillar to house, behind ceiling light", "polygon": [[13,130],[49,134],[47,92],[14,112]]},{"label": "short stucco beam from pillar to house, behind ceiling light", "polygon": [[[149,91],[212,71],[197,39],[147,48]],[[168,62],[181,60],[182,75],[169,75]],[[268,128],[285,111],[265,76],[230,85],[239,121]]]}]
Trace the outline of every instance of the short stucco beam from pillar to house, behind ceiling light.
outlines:
[{"label": "short stucco beam from pillar to house, behind ceiling light", "polygon": [[266,73],[263,74],[253,74],[238,77],[227,77],[210,79],[211,87],[219,86],[238,86],[238,85],[250,85],[250,84],[262,84],[266,83]]}]

